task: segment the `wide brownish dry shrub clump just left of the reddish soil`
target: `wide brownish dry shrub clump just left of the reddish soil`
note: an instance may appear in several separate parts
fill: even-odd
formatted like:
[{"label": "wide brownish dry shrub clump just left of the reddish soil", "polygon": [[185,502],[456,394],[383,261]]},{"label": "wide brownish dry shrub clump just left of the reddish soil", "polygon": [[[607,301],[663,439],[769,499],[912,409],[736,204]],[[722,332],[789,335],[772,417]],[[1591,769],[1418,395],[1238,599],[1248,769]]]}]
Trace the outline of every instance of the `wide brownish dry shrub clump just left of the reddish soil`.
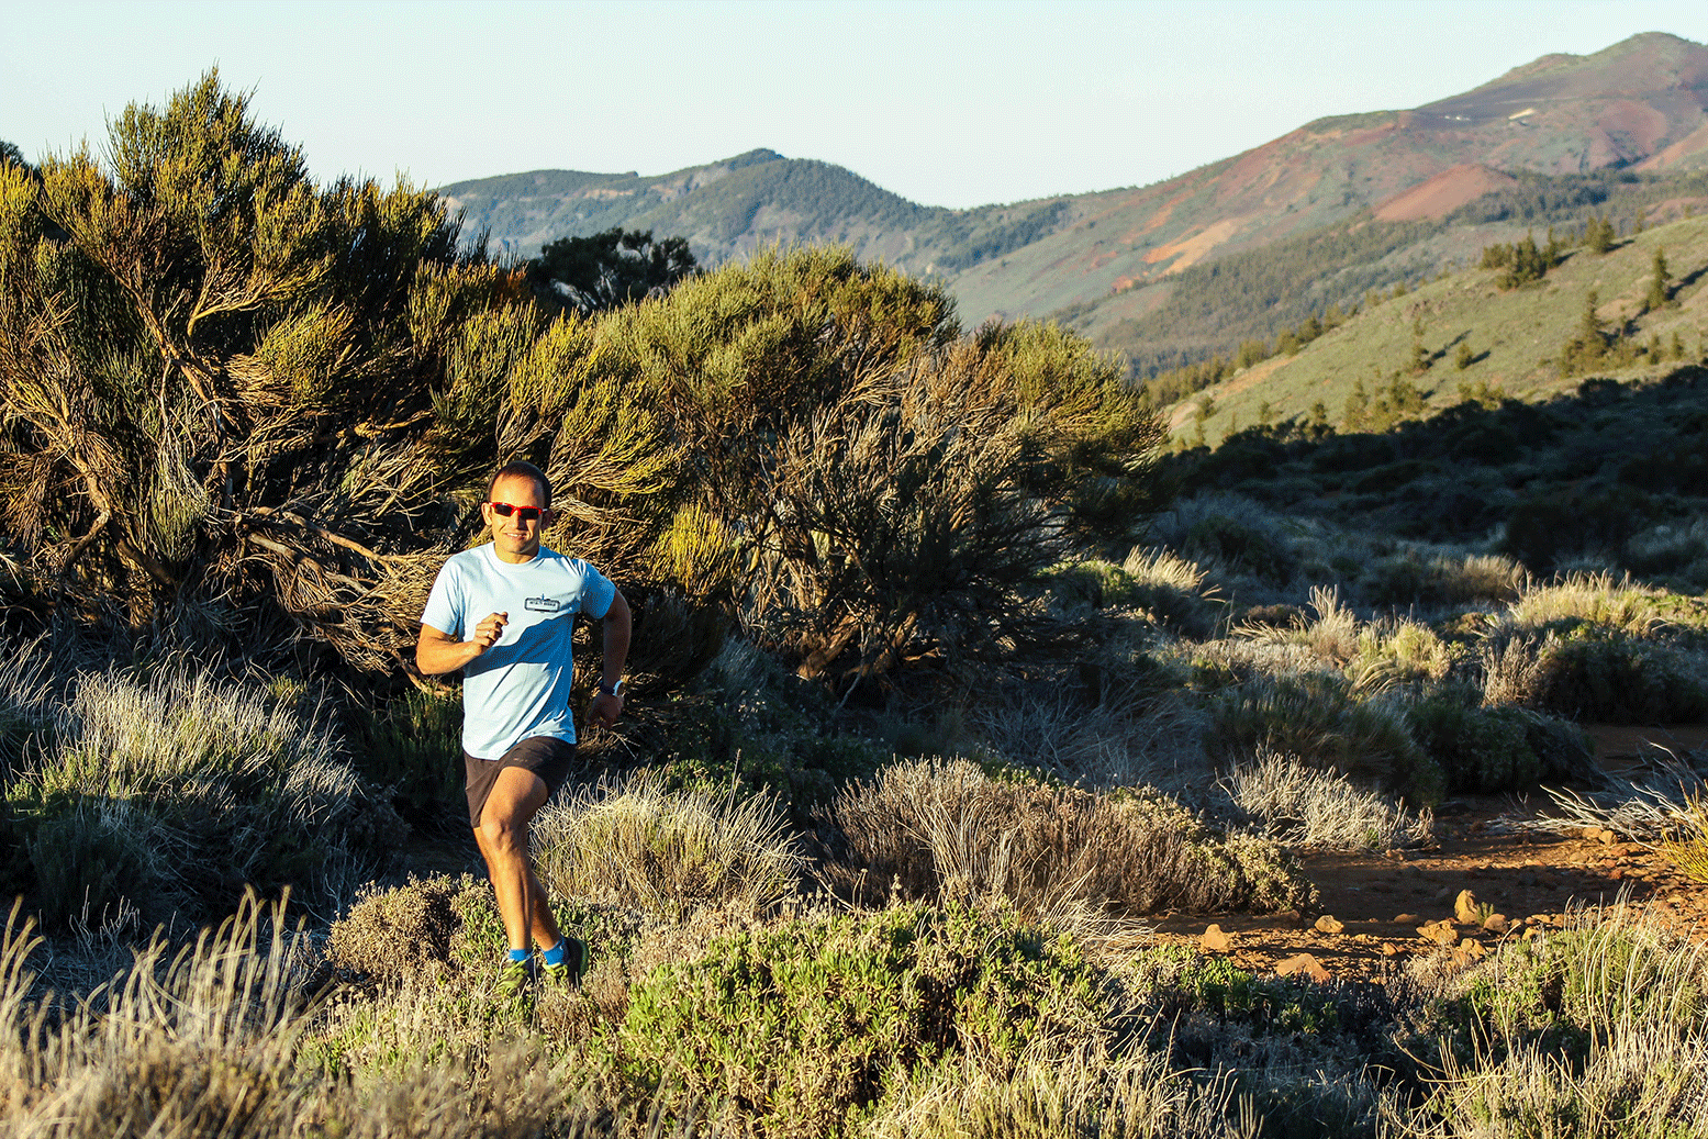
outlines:
[{"label": "wide brownish dry shrub clump just left of the reddish soil", "polygon": [[1091,794],[991,779],[968,760],[909,760],[832,804],[845,856],[834,883],[881,900],[999,897],[1097,927],[1103,915],[1296,908],[1310,883],[1272,842],[1214,837],[1155,792]]}]

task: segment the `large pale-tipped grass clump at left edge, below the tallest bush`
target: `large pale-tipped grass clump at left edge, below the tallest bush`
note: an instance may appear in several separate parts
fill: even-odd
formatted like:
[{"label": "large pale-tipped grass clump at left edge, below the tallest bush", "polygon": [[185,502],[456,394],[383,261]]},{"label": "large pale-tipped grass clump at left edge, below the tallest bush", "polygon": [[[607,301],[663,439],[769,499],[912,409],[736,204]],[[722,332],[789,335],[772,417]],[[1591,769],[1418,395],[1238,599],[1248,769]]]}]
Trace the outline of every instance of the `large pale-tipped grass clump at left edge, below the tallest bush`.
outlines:
[{"label": "large pale-tipped grass clump at left edge, below the tallest bush", "polygon": [[50,926],[195,920],[244,886],[335,903],[401,837],[330,726],[285,697],[203,671],[75,678],[53,743],[14,772],[14,885]]}]

